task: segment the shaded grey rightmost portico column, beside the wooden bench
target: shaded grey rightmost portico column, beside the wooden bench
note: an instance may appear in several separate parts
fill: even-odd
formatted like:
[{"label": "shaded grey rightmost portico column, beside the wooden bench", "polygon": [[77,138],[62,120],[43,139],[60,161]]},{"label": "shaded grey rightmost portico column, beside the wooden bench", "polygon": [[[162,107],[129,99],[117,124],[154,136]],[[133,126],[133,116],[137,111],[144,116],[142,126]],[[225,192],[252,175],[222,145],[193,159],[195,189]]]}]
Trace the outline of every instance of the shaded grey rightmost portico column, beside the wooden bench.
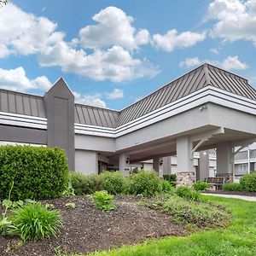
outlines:
[{"label": "shaded grey rightmost portico column, beside the wooden bench", "polygon": [[230,143],[218,143],[217,145],[217,176],[224,176],[226,179],[232,177],[234,154]]}]

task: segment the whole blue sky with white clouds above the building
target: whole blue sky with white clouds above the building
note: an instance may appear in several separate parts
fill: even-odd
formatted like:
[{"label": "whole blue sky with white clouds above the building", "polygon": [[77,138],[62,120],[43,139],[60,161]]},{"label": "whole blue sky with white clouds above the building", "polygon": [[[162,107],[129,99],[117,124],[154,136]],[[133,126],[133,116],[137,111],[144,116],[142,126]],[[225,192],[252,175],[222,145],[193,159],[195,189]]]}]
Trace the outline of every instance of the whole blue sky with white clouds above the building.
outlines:
[{"label": "whole blue sky with white clouds above the building", "polygon": [[13,0],[0,8],[0,86],[122,109],[207,61],[256,85],[256,1]]}]

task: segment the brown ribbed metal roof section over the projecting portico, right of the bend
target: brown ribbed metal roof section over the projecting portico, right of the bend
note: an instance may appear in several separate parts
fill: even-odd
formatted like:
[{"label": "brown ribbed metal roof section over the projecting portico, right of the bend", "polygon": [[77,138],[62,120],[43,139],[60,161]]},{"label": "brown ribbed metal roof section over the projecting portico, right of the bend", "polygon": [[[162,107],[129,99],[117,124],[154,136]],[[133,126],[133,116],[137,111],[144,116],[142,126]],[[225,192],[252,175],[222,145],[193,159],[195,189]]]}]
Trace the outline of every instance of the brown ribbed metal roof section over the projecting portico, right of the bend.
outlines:
[{"label": "brown ribbed metal roof section over the projecting portico, right of the bend", "polygon": [[175,102],[207,85],[256,100],[256,90],[248,84],[247,79],[210,64],[204,64],[122,110],[118,126]]}]

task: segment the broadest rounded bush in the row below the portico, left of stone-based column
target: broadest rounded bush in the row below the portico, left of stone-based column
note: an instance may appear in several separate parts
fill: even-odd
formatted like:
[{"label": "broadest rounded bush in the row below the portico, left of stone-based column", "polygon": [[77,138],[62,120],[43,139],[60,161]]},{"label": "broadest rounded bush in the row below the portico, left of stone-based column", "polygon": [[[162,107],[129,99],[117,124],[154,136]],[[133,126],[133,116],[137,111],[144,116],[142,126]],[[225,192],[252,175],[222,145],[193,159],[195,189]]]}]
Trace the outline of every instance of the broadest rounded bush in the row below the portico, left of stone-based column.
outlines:
[{"label": "broadest rounded bush in the row below the portico, left of stone-based column", "polygon": [[129,192],[132,195],[151,196],[160,192],[161,180],[154,171],[139,171],[130,177]]}]

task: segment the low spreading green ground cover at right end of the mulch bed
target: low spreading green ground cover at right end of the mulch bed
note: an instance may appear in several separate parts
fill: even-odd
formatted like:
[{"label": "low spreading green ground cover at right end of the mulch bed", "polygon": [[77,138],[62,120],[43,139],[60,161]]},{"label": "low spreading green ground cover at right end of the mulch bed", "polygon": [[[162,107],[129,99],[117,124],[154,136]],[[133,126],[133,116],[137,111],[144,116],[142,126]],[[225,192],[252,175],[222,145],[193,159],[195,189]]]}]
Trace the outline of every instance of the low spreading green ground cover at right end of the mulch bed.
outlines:
[{"label": "low spreading green ground cover at right end of the mulch bed", "polygon": [[171,196],[164,201],[155,201],[148,206],[166,212],[182,223],[197,226],[225,224],[224,221],[229,218],[229,214],[215,204],[208,202],[195,204],[177,196]]}]

